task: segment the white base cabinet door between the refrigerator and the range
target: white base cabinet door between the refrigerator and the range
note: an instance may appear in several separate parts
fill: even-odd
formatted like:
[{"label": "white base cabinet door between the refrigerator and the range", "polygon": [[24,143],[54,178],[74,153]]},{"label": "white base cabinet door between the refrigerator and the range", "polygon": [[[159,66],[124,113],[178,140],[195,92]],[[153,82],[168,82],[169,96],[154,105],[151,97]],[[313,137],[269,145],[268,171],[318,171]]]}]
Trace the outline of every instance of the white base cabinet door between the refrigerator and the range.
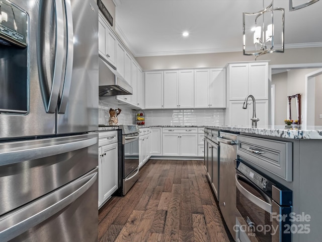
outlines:
[{"label": "white base cabinet door between the refrigerator and the range", "polygon": [[117,143],[102,146],[102,158],[99,163],[102,203],[118,189],[118,149]]}]

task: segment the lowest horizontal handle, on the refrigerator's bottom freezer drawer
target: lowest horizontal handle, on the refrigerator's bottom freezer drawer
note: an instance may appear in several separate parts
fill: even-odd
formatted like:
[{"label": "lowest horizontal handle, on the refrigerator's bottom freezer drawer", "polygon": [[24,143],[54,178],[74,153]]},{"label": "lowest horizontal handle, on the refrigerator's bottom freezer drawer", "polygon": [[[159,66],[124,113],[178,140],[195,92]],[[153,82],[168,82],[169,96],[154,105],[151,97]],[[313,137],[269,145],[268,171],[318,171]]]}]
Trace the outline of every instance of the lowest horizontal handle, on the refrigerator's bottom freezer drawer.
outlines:
[{"label": "lowest horizontal handle, on the refrigerator's bottom freezer drawer", "polygon": [[0,220],[0,240],[9,241],[63,210],[89,190],[97,177],[98,172],[89,174],[18,211],[5,215]]}]

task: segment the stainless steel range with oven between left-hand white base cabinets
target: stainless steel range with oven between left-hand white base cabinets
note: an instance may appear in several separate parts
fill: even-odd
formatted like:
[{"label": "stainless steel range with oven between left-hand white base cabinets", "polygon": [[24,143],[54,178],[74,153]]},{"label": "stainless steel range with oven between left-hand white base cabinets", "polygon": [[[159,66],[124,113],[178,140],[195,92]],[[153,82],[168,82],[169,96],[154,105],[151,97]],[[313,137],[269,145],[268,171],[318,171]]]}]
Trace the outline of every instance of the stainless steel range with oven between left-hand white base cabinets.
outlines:
[{"label": "stainless steel range with oven between left-hand white base cabinets", "polygon": [[137,125],[120,125],[119,128],[122,134],[119,194],[124,196],[139,177],[139,128]]}]

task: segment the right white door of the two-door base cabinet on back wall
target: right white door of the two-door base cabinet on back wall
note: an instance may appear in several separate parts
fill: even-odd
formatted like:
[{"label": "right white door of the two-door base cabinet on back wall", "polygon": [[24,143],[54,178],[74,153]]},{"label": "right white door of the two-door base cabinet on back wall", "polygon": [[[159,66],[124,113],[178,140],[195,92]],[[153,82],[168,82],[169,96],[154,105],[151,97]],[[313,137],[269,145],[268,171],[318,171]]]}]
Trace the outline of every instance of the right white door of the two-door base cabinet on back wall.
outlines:
[{"label": "right white door of the two-door base cabinet on back wall", "polygon": [[180,134],[180,155],[198,156],[198,134]]}]

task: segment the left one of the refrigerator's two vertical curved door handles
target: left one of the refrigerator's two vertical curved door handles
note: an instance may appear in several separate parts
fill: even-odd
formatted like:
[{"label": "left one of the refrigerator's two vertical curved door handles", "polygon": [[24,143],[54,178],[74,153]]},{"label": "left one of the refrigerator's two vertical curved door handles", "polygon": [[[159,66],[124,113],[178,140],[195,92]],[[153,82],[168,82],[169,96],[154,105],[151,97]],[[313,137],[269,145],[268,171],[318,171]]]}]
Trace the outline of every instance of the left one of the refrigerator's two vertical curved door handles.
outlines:
[{"label": "left one of the refrigerator's two vertical curved door handles", "polygon": [[52,80],[51,91],[49,95],[48,103],[46,103],[46,112],[54,113],[57,107],[57,100],[59,95],[59,88],[61,83],[61,75],[63,68],[63,59],[64,53],[61,51],[64,49],[64,23],[63,23],[63,7],[62,3],[59,0],[55,0],[55,22],[56,22],[56,30],[55,30],[55,63],[54,63],[54,74]]}]

